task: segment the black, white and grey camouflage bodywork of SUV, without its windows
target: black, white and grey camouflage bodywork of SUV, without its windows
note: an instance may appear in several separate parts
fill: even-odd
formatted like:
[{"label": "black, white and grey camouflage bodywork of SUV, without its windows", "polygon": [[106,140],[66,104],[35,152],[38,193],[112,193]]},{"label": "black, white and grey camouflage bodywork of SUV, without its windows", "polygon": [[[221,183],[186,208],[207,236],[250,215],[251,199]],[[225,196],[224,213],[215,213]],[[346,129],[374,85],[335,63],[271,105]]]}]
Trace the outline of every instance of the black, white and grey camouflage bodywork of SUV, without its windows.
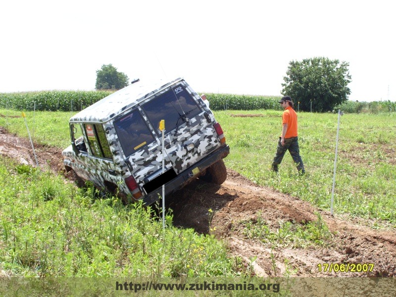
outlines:
[{"label": "black, white and grey camouflage bodywork of SUV, without its windows", "polygon": [[[134,176],[142,194],[147,194],[143,188],[144,181],[151,180],[162,173],[162,137],[156,134],[154,127],[148,120],[140,103],[145,103],[167,92],[170,88],[183,86],[184,89],[198,102],[201,111],[189,123],[183,123],[172,131],[165,130],[165,171],[172,169],[177,175],[193,166],[203,157],[221,146],[218,135],[213,127],[216,123],[213,113],[203,100],[181,78],[167,84],[143,85],[138,82],[119,90],[110,96],[99,100],[97,103],[80,111],[70,118],[70,123],[80,125],[84,131],[84,123],[101,123],[103,125],[107,142],[112,153],[112,159],[92,155],[88,138],[83,132],[87,153],[76,155],[69,146],[63,150],[64,165],[66,169],[72,168],[78,176],[92,181],[99,187],[105,187],[106,182],[118,185],[121,192],[130,194],[124,179],[131,174]],[[126,156],[120,145],[114,120],[131,110],[138,109],[143,116],[155,141]],[[206,116],[205,116],[206,113]],[[209,121],[207,120],[209,118]],[[166,129],[166,123],[165,123]],[[177,131],[176,131],[177,130]],[[194,144],[190,151],[186,146]]]}]

